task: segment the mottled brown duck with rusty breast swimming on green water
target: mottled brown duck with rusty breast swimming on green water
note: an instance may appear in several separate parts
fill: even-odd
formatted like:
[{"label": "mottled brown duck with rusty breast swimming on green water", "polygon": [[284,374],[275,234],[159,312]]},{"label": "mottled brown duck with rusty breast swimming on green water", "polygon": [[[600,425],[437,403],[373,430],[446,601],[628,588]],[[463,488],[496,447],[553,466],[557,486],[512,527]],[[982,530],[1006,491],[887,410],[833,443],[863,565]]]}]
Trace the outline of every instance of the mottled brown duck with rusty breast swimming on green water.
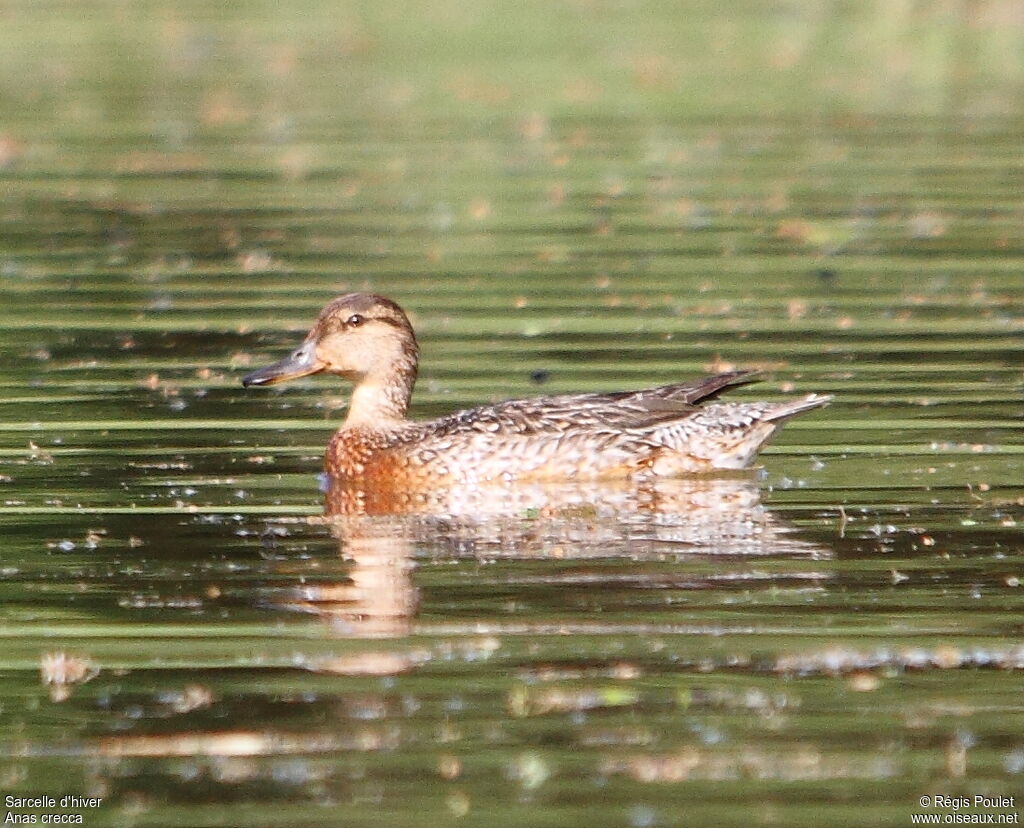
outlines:
[{"label": "mottled brown duck with rusty breast swimming on green water", "polygon": [[792,418],[826,405],[719,402],[756,371],[712,374],[635,391],[512,399],[435,420],[410,420],[419,345],[409,316],[372,293],[331,301],[298,348],[242,380],[270,386],[312,374],[352,384],[344,423],[328,444],[333,481],[429,490],[511,481],[649,480],[746,469]]}]

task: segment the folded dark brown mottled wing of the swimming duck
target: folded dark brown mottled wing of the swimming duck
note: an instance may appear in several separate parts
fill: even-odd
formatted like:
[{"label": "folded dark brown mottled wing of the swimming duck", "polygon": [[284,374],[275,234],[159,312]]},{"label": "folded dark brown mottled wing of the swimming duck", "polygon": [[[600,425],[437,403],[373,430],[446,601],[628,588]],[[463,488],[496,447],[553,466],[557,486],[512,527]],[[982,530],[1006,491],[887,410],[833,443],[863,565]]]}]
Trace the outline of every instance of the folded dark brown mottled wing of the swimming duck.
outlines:
[{"label": "folded dark brown mottled wing of the swimming duck", "polygon": [[757,372],[733,371],[687,383],[613,393],[564,394],[508,400],[452,415],[453,425],[515,434],[621,432],[655,428],[698,410],[695,403],[753,382]]}]

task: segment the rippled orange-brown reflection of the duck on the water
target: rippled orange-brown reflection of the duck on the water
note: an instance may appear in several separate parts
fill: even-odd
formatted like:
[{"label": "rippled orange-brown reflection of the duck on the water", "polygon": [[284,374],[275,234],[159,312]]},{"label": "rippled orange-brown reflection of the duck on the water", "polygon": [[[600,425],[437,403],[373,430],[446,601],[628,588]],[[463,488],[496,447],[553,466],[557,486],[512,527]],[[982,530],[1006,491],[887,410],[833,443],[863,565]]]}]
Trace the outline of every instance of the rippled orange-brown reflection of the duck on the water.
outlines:
[{"label": "rippled orange-brown reflection of the duck on the water", "polygon": [[[323,521],[348,562],[348,579],[303,587],[281,606],[322,615],[345,637],[413,631],[418,556],[449,559],[652,556],[819,560],[762,503],[750,474],[643,484],[514,484],[404,493],[334,481]],[[691,578],[692,580],[692,578]]]}]

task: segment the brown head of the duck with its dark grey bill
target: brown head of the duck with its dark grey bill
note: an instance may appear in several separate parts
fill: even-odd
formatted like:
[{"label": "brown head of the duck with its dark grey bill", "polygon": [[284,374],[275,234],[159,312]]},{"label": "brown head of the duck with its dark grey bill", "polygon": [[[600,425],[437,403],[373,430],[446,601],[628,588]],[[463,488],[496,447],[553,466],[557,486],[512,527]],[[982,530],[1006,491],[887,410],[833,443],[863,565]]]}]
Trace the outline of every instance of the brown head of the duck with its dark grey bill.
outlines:
[{"label": "brown head of the duck with its dark grey bill", "polygon": [[292,353],[247,376],[242,385],[273,385],[310,374],[338,374],[362,383],[394,383],[412,390],[419,351],[409,317],[375,294],[339,296],[321,311]]}]

